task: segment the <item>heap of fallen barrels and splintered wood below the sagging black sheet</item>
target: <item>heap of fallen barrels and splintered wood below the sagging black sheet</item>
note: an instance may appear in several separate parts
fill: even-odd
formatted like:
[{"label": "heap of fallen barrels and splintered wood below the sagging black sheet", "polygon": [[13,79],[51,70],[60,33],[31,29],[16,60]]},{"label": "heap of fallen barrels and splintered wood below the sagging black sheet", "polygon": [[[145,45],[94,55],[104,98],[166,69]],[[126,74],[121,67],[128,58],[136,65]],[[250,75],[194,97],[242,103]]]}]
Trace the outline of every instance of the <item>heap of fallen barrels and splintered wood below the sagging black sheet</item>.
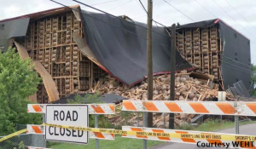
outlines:
[{"label": "heap of fallen barrels and splintered wood below the sagging black sheet", "polygon": [[[182,71],[176,73],[175,78],[175,100],[212,100],[218,97],[218,89],[211,89],[210,80],[200,80],[197,78],[189,77],[188,72]],[[170,100],[170,77],[171,75],[160,75],[154,77],[153,80],[153,100]],[[204,82],[204,83],[203,83]],[[120,84],[113,77],[101,78],[97,83],[96,88],[86,91],[86,93],[99,91],[101,94],[116,94],[121,95],[128,100],[148,100],[148,83],[147,80],[137,84],[135,87],[128,88],[124,84]],[[100,85],[102,84],[102,85]],[[218,86],[218,85],[216,85]],[[232,97],[227,93],[227,97]],[[119,104],[121,106],[121,104]],[[120,109],[121,107],[118,107]],[[135,113],[133,113],[135,114]],[[161,128],[168,122],[169,114],[154,113],[154,126]],[[195,117],[194,114],[175,114],[175,123],[189,123],[191,118]],[[114,124],[125,121],[125,117],[119,114],[111,118]],[[137,126],[137,115],[132,115],[129,118],[130,123]],[[142,123],[142,122],[139,122]],[[142,126],[142,125],[141,125]]]}]

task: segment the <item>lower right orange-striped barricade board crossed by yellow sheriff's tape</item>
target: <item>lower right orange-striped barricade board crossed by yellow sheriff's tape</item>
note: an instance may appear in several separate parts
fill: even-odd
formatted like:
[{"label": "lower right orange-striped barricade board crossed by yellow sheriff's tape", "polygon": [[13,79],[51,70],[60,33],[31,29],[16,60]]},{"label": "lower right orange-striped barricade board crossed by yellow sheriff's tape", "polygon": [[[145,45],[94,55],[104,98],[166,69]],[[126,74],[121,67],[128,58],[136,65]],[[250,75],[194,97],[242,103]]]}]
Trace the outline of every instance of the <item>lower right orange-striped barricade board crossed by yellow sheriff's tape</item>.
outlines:
[{"label": "lower right orange-striped barricade board crossed by yellow sheriff's tape", "polygon": [[[153,129],[131,126],[122,126],[122,130],[137,132],[137,135],[122,135],[122,137],[125,138],[161,140],[195,145],[202,143],[213,143],[214,145],[216,143],[225,147],[229,145],[228,148],[256,148],[256,135],[236,135],[177,129]],[[141,133],[147,133],[148,136],[142,135]],[[155,136],[152,136],[151,133]],[[246,143],[247,145],[245,145]]]}]

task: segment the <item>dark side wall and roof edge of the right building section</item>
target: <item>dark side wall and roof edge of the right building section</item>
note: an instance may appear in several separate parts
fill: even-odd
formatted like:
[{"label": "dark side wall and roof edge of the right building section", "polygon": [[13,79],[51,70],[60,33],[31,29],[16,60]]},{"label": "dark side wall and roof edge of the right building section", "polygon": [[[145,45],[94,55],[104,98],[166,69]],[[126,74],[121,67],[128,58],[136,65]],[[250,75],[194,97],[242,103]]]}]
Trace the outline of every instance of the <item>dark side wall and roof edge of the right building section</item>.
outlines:
[{"label": "dark side wall and roof edge of the right building section", "polygon": [[229,89],[233,83],[239,80],[250,89],[251,70],[250,70],[250,40],[236,32],[233,28],[224,23],[223,20],[205,20],[188,25],[180,26],[179,29],[201,28],[219,26],[221,42],[223,43],[221,72],[224,81],[224,88]]}]

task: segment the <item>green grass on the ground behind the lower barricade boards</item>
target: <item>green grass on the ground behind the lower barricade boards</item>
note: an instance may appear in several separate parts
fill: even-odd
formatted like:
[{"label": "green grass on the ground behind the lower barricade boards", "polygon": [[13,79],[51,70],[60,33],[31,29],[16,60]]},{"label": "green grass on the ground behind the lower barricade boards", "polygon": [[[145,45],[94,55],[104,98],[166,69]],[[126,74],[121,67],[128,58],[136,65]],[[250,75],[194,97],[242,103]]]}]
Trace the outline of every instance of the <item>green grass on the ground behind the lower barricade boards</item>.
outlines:
[{"label": "green grass on the ground behind the lower barricade boards", "polygon": [[[247,123],[255,123],[255,121],[248,121],[248,122],[241,122],[241,124],[247,124]],[[216,131],[219,129],[228,129],[231,127],[234,127],[234,122],[228,122],[228,121],[208,121],[206,123],[202,123],[201,125],[197,127],[193,127],[190,125],[183,125],[180,128],[177,129],[184,129],[184,130],[198,130],[198,131]],[[166,143],[164,141],[158,141],[158,140],[148,140],[148,147],[157,146],[163,143]],[[96,140],[89,140],[89,144],[84,145],[76,145],[76,144],[70,144],[70,143],[55,143],[50,142],[49,146],[47,146],[52,149],[95,149],[96,148]],[[115,140],[100,140],[100,148],[101,149],[141,149],[143,148],[143,140],[140,139],[129,139],[129,138],[122,138],[119,135],[116,135]]]}]

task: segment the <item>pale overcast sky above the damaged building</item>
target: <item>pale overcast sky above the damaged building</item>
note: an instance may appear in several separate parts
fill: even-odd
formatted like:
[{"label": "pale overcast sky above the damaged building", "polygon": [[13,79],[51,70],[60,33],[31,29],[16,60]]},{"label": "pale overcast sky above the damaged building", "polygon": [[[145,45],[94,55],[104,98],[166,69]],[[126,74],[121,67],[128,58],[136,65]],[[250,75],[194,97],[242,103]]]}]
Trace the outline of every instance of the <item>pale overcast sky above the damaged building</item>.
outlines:
[{"label": "pale overcast sky above the damaged building", "polygon": [[[72,0],[55,0],[65,5],[77,5]],[[113,2],[110,2],[113,1]],[[148,0],[141,0],[147,9]],[[167,3],[166,3],[166,2]],[[197,2],[198,3],[197,3]],[[133,20],[147,22],[146,14],[138,0],[80,0],[114,15],[127,15]],[[105,3],[110,2],[110,3]],[[0,20],[59,8],[61,5],[49,0],[0,0]],[[99,4],[102,3],[102,4]],[[168,3],[172,4],[170,6]],[[204,9],[205,7],[206,9]],[[218,4],[216,4],[218,3]],[[218,6],[219,5],[219,6]],[[231,5],[231,6],[230,6]],[[222,9],[221,9],[221,8]],[[233,8],[234,9],[233,9]],[[81,5],[82,9],[90,10]],[[180,13],[179,11],[182,13]],[[224,9],[224,10],[223,10]],[[225,11],[225,12],[224,12]],[[228,13],[228,14],[226,14]],[[239,13],[239,14],[238,14]],[[184,15],[185,14],[185,15]],[[189,19],[187,16],[189,16]],[[214,16],[215,15],[215,16]],[[179,22],[181,25],[194,21],[212,20],[216,17],[251,40],[251,57],[256,64],[256,0],[154,0],[153,18],[165,26]]]}]

